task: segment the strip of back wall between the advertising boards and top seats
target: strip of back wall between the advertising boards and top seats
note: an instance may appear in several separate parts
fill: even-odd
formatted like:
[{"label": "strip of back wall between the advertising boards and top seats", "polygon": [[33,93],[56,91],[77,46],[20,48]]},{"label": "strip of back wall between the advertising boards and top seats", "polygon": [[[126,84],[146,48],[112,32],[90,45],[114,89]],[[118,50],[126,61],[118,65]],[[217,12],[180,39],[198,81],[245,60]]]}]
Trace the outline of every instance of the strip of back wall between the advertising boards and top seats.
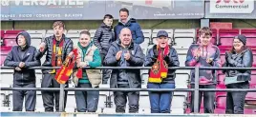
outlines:
[{"label": "strip of back wall between the advertising boards and top seats", "polygon": [[[102,21],[64,21],[66,29],[97,29]],[[230,22],[234,29],[256,28],[256,19],[211,19],[210,22]],[[115,20],[114,25],[117,24]],[[197,29],[199,19],[139,20],[142,29]],[[53,21],[1,21],[1,29],[52,29]]]}]

